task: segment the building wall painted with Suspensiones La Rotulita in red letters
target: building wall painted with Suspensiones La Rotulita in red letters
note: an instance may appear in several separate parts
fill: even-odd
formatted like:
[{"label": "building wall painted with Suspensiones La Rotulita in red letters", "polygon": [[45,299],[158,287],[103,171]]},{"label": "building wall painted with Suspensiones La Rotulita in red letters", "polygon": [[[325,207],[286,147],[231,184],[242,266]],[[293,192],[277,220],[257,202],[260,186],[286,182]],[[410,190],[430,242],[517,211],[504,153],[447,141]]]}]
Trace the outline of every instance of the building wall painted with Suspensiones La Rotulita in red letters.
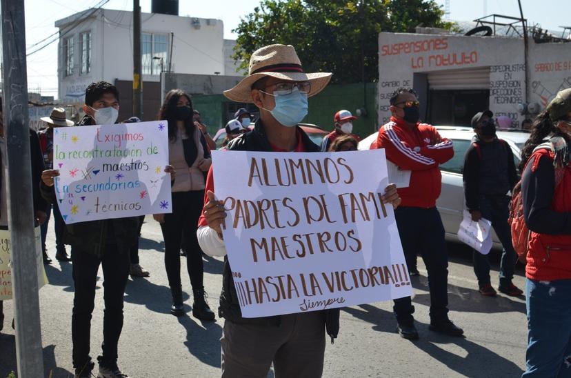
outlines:
[{"label": "building wall painted with Suspensiones La Rotulita in red letters", "polygon": [[[523,119],[537,115],[534,109],[543,108],[558,90],[571,87],[571,43],[530,41],[528,51],[527,95],[523,39],[381,32],[379,124],[390,117],[389,98],[395,89],[410,86],[419,92],[421,102],[429,102],[434,93],[430,77],[438,74],[441,81],[450,77],[451,91],[477,89],[485,91],[486,96],[489,93],[488,108],[494,115],[507,115],[512,126],[519,126]],[[465,79],[459,74],[463,72]],[[485,77],[470,76],[470,72],[483,72]],[[524,103],[537,103],[525,107],[535,114],[523,114]]]}]

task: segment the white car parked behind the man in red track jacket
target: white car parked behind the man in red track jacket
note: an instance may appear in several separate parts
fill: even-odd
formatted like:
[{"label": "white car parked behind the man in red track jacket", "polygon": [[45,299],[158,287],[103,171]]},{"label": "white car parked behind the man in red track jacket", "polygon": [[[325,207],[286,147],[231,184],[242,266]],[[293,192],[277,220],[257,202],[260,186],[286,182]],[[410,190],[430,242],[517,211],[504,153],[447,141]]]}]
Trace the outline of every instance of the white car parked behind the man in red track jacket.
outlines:
[{"label": "white car parked behind the man in red track jacket", "polygon": [[[442,192],[437,200],[437,208],[442,217],[444,230],[446,231],[446,239],[449,241],[459,241],[457,238],[458,228],[462,221],[462,213],[465,209],[464,188],[462,183],[462,169],[464,165],[464,155],[474,131],[470,127],[459,126],[436,126],[439,134],[443,138],[451,139],[454,143],[454,157],[441,164],[440,171],[442,173]],[[378,133],[375,132],[359,142],[359,150],[368,150],[371,143],[377,139]],[[497,135],[500,139],[508,142],[512,152],[514,152],[514,161],[516,167],[519,166],[521,148],[530,137],[529,132],[521,130],[498,130]],[[494,248],[501,248],[501,243],[495,232],[492,234]]]}]

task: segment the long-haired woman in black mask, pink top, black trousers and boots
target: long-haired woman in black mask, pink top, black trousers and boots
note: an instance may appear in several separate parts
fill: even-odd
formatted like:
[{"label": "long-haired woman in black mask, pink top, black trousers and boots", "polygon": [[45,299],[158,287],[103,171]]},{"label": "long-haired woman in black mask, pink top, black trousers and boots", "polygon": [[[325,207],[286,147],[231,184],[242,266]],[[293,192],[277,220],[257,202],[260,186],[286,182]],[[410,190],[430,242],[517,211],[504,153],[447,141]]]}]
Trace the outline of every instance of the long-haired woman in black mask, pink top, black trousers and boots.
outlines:
[{"label": "long-haired woman in black mask, pink top, black trousers and boots", "polygon": [[[197,225],[204,203],[204,175],[210,168],[210,150],[202,132],[192,122],[192,101],[183,90],[170,90],[159,111],[168,121],[169,164],[177,171],[172,185],[172,213],[154,215],[161,223],[165,240],[165,268],[172,293],[170,313],[184,315],[181,286],[181,243],[188,251],[186,266],[194,294],[192,315],[214,320],[205,299],[202,250],[197,241]],[[182,235],[185,237],[182,237]]]}]

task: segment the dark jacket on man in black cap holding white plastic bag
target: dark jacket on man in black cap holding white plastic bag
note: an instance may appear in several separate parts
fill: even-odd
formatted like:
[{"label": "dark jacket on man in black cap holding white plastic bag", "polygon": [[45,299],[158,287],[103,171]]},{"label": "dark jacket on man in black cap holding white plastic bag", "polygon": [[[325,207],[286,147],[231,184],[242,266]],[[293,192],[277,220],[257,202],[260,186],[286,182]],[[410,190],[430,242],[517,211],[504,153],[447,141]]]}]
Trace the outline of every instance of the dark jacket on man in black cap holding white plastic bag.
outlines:
[{"label": "dark jacket on man in black cap holding white plastic bag", "polygon": [[485,143],[474,137],[464,155],[462,171],[468,210],[479,210],[479,201],[488,195],[505,195],[518,181],[514,154],[508,143],[494,139]]}]

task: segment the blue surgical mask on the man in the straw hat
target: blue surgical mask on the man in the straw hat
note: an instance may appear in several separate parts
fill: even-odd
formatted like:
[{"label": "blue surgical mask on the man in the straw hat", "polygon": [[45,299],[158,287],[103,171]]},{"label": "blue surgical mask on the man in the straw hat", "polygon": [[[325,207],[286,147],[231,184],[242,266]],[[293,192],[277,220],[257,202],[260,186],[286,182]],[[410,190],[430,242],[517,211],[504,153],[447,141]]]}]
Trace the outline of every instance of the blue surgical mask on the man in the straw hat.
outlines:
[{"label": "blue surgical mask on the man in the straw hat", "polygon": [[299,92],[297,87],[293,88],[291,93],[281,94],[274,92],[270,96],[275,97],[276,106],[272,110],[262,109],[270,112],[276,121],[283,126],[288,126],[289,128],[297,126],[308,115],[308,94]]}]

